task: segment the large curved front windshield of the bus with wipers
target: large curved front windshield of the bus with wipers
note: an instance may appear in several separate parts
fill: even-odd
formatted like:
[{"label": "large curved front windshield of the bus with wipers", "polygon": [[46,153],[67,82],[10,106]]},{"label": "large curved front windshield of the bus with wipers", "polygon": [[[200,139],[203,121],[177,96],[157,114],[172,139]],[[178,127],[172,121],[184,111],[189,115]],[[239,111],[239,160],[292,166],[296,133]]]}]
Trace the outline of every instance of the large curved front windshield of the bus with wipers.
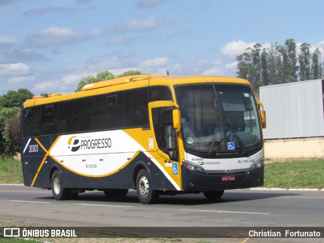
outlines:
[{"label": "large curved front windshield of the bus with wipers", "polygon": [[207,155],[261,145],[258,109],[250,86],[185,85],[175,88],[185,148]]}]

